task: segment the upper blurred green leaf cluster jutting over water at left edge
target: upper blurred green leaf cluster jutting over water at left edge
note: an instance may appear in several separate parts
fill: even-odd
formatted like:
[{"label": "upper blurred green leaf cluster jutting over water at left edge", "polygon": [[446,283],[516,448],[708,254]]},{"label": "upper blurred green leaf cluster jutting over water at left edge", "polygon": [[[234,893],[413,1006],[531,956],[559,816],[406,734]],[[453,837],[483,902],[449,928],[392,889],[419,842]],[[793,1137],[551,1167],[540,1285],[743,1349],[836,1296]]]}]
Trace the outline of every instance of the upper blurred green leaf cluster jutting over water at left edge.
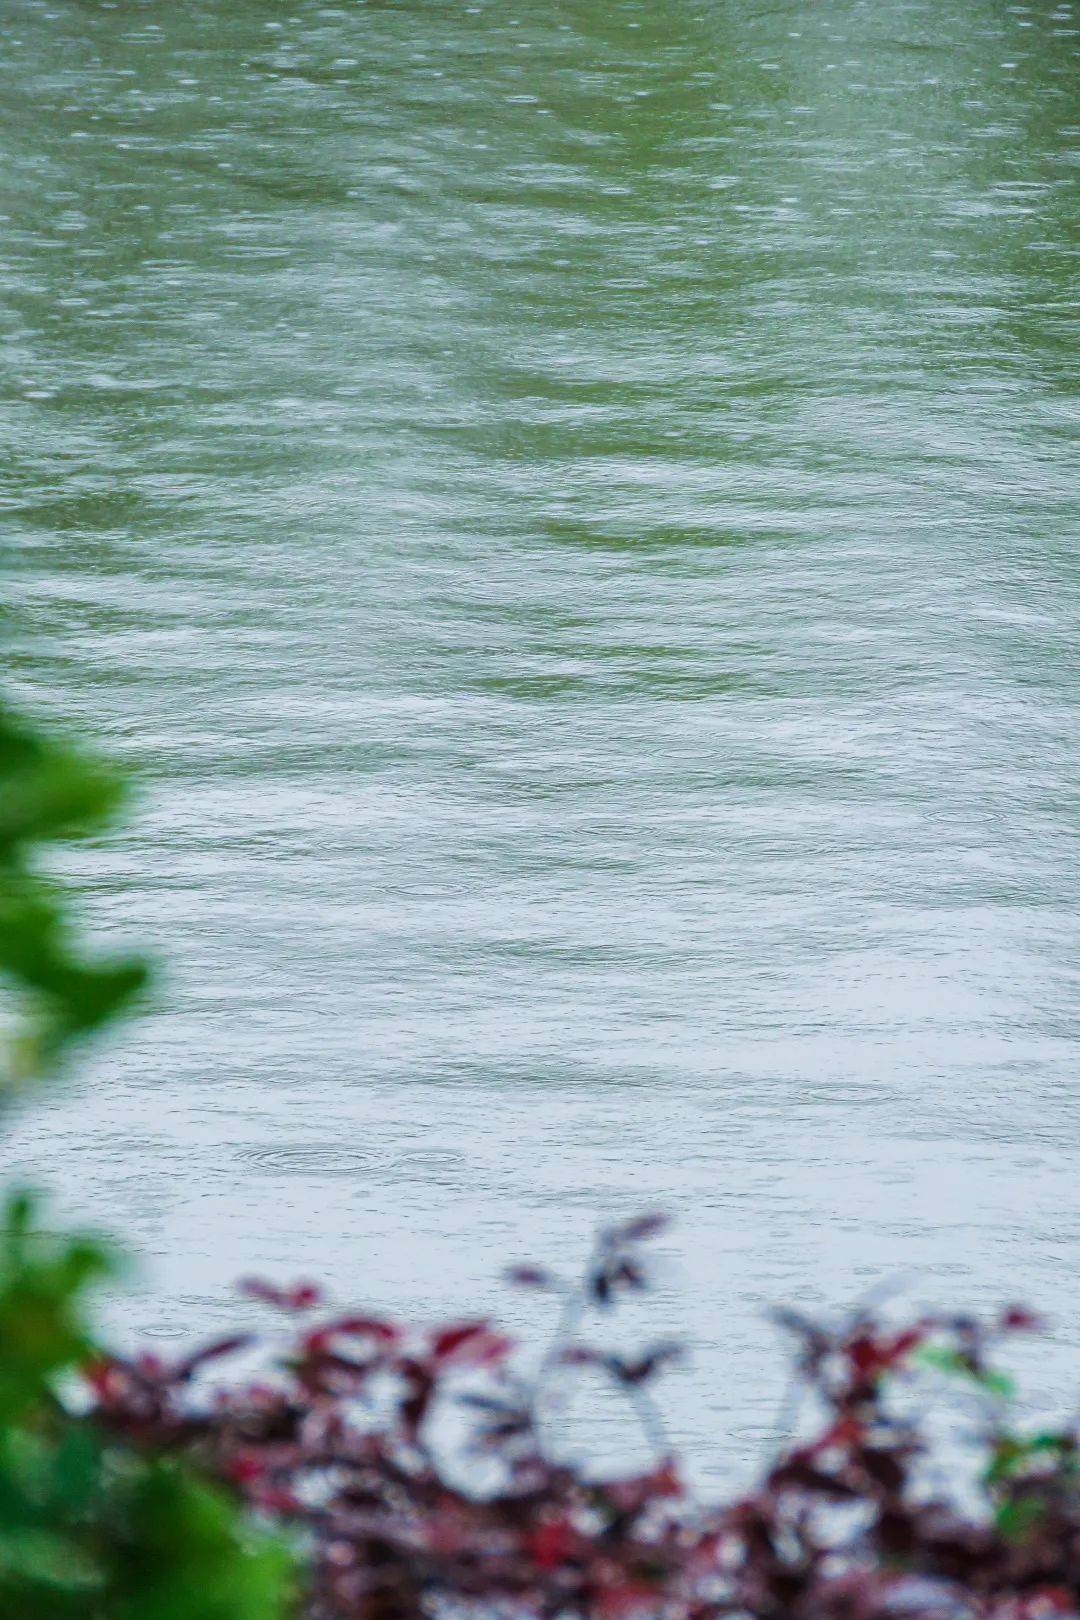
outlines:
[{"label": "upper blurred green leaf cluster jutting over water at left edge", "polygon": [[123,795],[113,771],[0,703],[0,975],[23,1003],[8,1082],[53,1069],[146,982],[144,962],[94,961],[78,948],[63,893],[36,865],[39,846],[107,826]]}]

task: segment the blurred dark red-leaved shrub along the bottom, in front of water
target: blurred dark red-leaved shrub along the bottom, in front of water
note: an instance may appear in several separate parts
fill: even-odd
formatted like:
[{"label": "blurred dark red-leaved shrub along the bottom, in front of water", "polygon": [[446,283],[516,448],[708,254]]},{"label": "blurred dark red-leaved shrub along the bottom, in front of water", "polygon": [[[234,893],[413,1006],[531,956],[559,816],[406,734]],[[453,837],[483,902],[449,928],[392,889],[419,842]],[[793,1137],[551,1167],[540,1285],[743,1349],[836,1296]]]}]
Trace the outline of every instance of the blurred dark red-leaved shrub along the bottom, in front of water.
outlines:
[{"label": "blurred dark red-leaved shrub along the bottom, in front of water", "polygon": [[[186,1453],[298,1531],[304,1620],[1080,1620],[1077,1432],[1010,1429],[993,1369],[1002,1335],[1033,1317],[895,1328],[868,1311],[832,1328],[784,1314],[819,1429],[745,1498],[701,1507],[651,1395],[675,1346],[622,1358],[581,1338],[589,1309],[648,1288],[643,1244],[661,1230],[649,1215],[601,1233],[578,1285],[510,1273],[562,1299],[533,1380],[484,1320],[313,1320],[311,1285],[248,1283],[303,1319],[264,1382],[204,1392],[199,1374],[248,1345],[238,1338],[172,1364],[115,1358],[87,1369],[92,1414],[136,1447]],[[552,1450],[552,1385],[581,1367],[631,1400],[657,1452],[644,1473],[594,1479]],[[912,1403],[928,1374],[981,1400],[976,1500],[944,1495],[928,1468]],[[449,1448],[452,1411],[468,1434]]]}]

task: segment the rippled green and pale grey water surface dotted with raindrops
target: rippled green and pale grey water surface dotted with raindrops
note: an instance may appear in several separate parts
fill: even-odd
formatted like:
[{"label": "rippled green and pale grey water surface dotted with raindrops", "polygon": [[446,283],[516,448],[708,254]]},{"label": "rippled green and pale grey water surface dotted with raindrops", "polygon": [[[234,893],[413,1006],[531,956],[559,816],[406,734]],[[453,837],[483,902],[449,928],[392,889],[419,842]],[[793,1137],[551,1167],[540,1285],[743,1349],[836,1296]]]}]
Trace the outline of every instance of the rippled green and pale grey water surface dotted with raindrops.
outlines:
[{"label": "rippled green and pale grey water surface dotted with raindrops", "polygon": [[167,961],[5,1155],[130,1320],[661,1204],[717,1466],[771,1302],[1075,1324],[1077,8],[2,21],[10,663]]}]

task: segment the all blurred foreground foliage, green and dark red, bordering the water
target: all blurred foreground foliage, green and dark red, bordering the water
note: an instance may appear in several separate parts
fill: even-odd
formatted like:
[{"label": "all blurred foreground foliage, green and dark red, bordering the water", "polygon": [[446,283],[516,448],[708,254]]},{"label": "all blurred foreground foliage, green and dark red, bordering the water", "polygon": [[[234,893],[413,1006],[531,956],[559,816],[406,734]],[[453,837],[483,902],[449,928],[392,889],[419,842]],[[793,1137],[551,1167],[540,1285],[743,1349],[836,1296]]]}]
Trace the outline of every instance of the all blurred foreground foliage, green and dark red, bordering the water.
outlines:
[{"label": "all blurred foreground foliage, green and dark red, bordering the water", "polygon": [[[40,863],[121,802],[115,773],[0,711],[10,1106],[32,1105],[146,985],[142,962],[87,954]],[[2,1620],[1080,1615],[1077,1432],[1031,1427],[997,1367],[1010,1335],[1038,1330],[1028,1311],[780,1312],[813,1421],[748,1494],[699,1502],[656,1392],[678,1346],[620,1356],[591,1335],[648,1293],[661,1230],[659,1215],[606,1228],[576,1280],[517,1267],[560,1324],[539,1371],[468,1302],[416,1325],[262,1280],[243,1288],[267,1309],[266,1341],[167,1359],[100,1341],[108,1243],[57,1231],[40,1196],[6,1189]],[[563,1396],[597,1377],[653,1448],[631,1477],[565,1453]]]}]

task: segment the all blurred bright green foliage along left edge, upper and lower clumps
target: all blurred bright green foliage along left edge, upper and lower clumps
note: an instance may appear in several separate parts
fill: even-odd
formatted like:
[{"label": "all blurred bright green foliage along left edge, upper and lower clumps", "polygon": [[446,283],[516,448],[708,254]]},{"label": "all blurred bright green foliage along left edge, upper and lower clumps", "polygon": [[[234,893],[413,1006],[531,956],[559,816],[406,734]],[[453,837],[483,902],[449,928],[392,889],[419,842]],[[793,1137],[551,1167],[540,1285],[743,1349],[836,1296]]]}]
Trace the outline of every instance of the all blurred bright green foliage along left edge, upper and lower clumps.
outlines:
[{"label": "all blurred bright green foliage along left edge, upper and lower clumps", "polygon": [[[53,1072],[117,1017],[141,961],[79,948],[40,846],[99,831],[120,778],[0,705],[0,977],[21,1003],[8,1082]],[[282,1620],[287,1547],[188,1464],[107,1439],[66,1400],[94,1354],[89,1294],[115,1268],[81,1234],[50,1234],[32,1196],[0,1225],[0,1620]]]}]

